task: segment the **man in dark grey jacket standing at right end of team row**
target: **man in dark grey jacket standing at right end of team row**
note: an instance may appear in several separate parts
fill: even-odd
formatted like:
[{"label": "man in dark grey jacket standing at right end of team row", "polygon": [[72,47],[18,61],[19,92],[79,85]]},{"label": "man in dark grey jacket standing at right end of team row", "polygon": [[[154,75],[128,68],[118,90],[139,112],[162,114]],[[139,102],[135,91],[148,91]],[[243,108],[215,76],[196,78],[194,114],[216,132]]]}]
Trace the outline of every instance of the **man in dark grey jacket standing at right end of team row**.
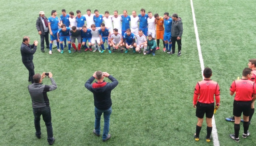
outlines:
[{"label": "man in dark grey jacket standing at right end of team row", "polygon": [[172,14],[172,30],[171,30],[171,41],[172,41],[172,52],[169,54],[175,53],[175,43],[178,44],[178,56],[181,56],[181,36],[183,33],[183,26],[181,18],[178,17],[178,14]]}]

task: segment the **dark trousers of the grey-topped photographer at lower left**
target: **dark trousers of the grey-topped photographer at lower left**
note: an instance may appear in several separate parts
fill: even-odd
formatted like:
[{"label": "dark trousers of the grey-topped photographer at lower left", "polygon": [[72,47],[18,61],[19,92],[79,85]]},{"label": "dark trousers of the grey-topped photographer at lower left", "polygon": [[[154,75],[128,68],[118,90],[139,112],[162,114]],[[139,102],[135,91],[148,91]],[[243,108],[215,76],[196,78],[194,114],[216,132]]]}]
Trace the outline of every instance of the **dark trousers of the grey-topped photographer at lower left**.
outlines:
[{"label": "dark trousers of the grey-topped photographer at lower left", "polygon": [[40,116],[43,116],[43,120],[47,130],[47,141],[51,143],[53,141],[53,126],[52,126],[52,116],[51,108],[49,106],[42,108],[33,108],[34,113],[34,124],[35,124],[35,135],[41,135],[40,127]]}]

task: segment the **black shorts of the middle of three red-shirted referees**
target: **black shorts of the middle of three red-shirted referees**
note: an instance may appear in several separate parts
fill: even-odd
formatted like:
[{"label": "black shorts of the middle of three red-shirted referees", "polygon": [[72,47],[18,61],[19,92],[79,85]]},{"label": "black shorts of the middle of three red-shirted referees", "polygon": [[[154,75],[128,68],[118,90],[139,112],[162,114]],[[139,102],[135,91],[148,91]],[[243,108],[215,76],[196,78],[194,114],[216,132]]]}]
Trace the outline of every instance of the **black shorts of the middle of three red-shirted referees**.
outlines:
[{"label": "black shorts of the middle of three red-shirted referees", "polygon": [[244,116],[249,116],[251,114],[251,104],[252,101],[241,102],[234,101],[233,103],[233,115],[240,117],[243,113]]}]

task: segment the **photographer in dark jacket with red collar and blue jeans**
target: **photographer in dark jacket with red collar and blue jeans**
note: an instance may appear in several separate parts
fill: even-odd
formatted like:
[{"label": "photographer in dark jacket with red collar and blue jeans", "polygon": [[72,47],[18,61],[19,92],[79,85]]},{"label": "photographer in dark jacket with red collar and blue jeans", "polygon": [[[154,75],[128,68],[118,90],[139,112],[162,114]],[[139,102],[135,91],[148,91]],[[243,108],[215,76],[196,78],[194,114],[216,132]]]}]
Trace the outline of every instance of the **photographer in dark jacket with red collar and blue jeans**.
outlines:
[{"label": "photographer in dark jacket with red collar and blue jeans", "polygon": [[[108,77],[112,83],[107,83],[103,79]],[[96,83],[93,83],[94,79],[97,79]],[[93,84],[91,84],[93,83]],[[104,129],[102,134],[103,142],[110,139],[109,133],[109,121],[110,114],[112,112],[111,90],[113,90],[118,84],[118,81],[107,72],[97,71],[90,77],[86,83],[85,88],[93,92],[94,106],[95,106],[95,129],[93,133],[100,136],[100,117],[104,113]]]}]

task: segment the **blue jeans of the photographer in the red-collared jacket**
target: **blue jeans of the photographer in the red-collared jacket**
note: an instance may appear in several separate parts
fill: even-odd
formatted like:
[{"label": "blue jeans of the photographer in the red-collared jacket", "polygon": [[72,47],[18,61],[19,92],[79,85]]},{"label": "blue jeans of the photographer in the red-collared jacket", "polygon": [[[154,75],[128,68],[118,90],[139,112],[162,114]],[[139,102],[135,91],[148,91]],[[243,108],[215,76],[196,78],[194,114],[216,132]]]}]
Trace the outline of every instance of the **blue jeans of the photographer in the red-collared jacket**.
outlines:
[{"label": "blue jeans of the photographer in the red-collared jacket", "polygon": [[100,117],[103,114],[104,116],[104,129],[102,134],[102,139],[105,140],[109,134],[109,121],[110,121],[110,115],[112,113],[112,108],[106,110],[99,110],[95,107],[95,130],[97,134],[100,134]]}]

